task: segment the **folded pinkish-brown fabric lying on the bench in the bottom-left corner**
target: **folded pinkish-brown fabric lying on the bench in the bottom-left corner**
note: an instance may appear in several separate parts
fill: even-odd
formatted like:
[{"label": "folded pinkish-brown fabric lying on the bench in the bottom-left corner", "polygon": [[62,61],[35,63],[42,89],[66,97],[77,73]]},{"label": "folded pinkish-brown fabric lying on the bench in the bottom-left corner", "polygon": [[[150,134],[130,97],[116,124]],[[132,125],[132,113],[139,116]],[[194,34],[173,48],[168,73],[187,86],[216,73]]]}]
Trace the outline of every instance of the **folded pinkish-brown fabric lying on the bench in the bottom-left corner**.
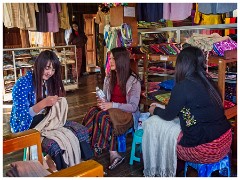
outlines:
[{"label": "folded pinkish-brown fabric lying on the bench in the bottom-left corner", "polygon": [[51,174],[39,161],[17,161],[10,165],[8,177],[44,177]]}]

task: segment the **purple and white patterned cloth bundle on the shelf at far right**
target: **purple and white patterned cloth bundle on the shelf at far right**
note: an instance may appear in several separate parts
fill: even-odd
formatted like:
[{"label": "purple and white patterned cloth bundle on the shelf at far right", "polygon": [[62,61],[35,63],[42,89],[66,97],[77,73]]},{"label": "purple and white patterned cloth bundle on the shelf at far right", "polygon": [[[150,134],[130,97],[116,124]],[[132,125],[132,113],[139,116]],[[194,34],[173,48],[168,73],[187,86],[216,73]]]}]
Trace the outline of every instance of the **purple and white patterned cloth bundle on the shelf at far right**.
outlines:
[{"label": "purple and white patterned cloth bundle on the shelf at far right", "polygon": [[213,49],[219,56],[224,56],[225,51],[237,49],[237,43],[232,39],[227,39],[214,43]]}]

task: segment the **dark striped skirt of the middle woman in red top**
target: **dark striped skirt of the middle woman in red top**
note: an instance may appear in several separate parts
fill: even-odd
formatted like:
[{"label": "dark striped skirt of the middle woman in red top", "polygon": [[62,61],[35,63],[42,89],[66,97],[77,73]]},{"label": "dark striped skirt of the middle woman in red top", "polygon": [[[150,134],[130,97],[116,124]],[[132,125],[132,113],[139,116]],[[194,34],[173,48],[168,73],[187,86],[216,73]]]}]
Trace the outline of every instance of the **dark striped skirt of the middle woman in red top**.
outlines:
[{"label": "dark striped skirt of the middle woman in red top", "polygon": [[116,151],[116,137],[112,135],[113,125],[108,111],[94,106],[87,112],[82,124],[88,128],[92,147]]}]

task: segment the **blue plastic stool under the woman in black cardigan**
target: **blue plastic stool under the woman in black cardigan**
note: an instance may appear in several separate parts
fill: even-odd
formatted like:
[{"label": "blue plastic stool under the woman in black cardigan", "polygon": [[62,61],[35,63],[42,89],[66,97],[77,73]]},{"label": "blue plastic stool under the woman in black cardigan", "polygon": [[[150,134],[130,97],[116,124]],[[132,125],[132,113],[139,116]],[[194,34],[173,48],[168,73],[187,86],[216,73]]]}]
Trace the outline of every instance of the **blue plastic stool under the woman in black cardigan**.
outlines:
[{"label": "blue plastic stool under the woman in black cardigan", "polygon": [[[219,170],[223,176],[231,176],[229,155],[226,155],[222,160],[211,164],[201,164],[193,162],[185,162],[184,176],[186,177],[187,168],[191,166],[198,171],[198,177],[210,177],[213,171]],[[226,173],[227,170],[227,173]]]}]

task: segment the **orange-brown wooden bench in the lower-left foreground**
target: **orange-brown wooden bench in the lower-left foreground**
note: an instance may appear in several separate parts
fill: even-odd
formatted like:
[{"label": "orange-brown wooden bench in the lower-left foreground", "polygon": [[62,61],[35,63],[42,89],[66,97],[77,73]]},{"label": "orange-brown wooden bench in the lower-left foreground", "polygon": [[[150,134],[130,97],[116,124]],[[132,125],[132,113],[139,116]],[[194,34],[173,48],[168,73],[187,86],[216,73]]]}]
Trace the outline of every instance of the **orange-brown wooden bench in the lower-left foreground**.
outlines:
[{"label": "orange-brown wooden bench in the lower-left foreground", "polygon": [[[38,161],[43,164],[41,136],[35,129],[3,136],[3,154],[37,145]],[[54,172],[47,177],[103,177],[103,166],[94,160]]]}]

